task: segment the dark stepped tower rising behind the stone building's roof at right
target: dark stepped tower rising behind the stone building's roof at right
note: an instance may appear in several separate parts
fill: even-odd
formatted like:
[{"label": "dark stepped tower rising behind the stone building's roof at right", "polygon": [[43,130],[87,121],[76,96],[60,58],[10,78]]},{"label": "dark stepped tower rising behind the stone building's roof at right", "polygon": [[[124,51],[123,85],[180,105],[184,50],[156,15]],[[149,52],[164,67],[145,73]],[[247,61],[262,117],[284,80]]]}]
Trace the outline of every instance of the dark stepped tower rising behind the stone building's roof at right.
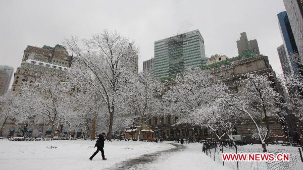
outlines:
[{"label": "dark stepped tower rising behind the stone building's roof at right", "polygon": [[240,39],[237,40],[237,46],[239,55],[242,55],[243,52],[248,50],[253,50],[256,54],[260,54],[258,41],[256,39],[248,41],[246,32],[240,34]]}]

